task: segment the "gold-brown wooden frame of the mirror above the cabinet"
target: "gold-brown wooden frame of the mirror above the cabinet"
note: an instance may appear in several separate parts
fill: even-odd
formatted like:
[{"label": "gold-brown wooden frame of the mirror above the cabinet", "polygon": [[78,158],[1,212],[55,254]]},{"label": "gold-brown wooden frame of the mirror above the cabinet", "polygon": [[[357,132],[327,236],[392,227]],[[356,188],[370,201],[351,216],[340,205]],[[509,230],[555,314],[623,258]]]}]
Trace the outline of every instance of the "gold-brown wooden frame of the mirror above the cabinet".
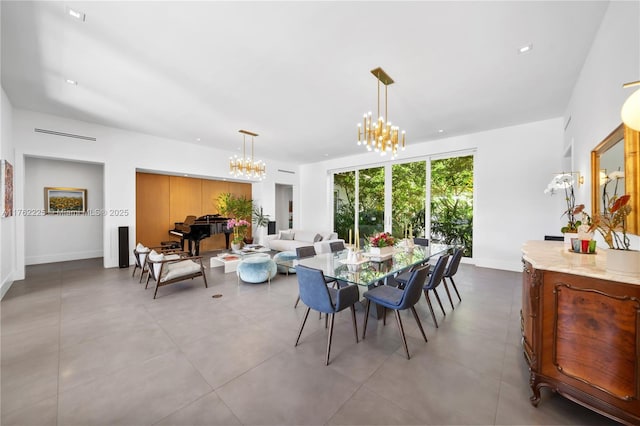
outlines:
[{"label": "gold-brown wooden frame of the mirror above the cabinet", "polygon": [[600,213],[600,155],[616,143],[624,143],[624,192],[630,194],[631,213],[627,217],[627,231],[638,235],[640,230],[640,132],[619,125],[591,151],[591,209],[595,216]]}]

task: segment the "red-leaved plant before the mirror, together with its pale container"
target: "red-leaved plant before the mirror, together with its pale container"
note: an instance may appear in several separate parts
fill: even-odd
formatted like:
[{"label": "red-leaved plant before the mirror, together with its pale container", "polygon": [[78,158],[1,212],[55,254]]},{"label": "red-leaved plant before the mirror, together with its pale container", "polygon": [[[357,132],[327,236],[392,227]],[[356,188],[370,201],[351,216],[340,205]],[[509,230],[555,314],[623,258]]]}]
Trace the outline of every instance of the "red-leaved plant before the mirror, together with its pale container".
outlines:
[{"label": "red-leaved plant before the mirror, together with its pale container", "polygon": [[[631,213],[629,200],[631,196],[618,196],[618,180],[624,178],[624,172],[610,173],[601,182],[603,212],[594,215],[590,230],[597,230],[607,250],[607,270],[621,274],[640,274],[640,251],[631,250],[631,241],[627,235],[627,217]],[[614,190],[609,195],[609,185],[615,182]]]}]

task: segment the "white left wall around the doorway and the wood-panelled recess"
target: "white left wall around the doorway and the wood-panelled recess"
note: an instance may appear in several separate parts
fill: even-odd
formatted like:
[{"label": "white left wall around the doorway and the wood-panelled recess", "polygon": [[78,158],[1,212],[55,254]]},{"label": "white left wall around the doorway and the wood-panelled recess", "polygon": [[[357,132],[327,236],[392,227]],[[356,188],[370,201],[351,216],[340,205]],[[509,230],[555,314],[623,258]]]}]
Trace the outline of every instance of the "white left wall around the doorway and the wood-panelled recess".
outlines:
[{"label": "white left wall around the doorway and the wood-panelled recess", "polygon": [[[65,138],[34,132],[34,128],[55,130],[83,136],[95,137],[96,141]],[[26,157],[45,157],[70,161],[90,162],[104,165],[104,209],[125,211],[126,216],[107,214],[103,217],[104,266],[118,265],[118,227],[130,229],[130,245],[135,241],[135,173],[136,169],[157,172],[189,174],[192,176],[226,179],[228,158],[232,152],[207,148],[202,145],[129,132],[99,126],[53,115],[14,109],[13,136],[15,146],[15,207],[25,207],[24,175]],[[275,208],[275,183],[297,186],[297,175],[277,170],[296,171],[291,165],[268,160],[267,179],[253,188],[253,197],[264,202],[265,212],[273,214]],[[266,195],[263,195],[266,194]],[[295,193],[294,193],[295,195]],[[270,199],[271,197],[271,199]],[[24,278],[25,220],[16,218],[17,273]],[[45,253],[42,254],[46,255]]]}]

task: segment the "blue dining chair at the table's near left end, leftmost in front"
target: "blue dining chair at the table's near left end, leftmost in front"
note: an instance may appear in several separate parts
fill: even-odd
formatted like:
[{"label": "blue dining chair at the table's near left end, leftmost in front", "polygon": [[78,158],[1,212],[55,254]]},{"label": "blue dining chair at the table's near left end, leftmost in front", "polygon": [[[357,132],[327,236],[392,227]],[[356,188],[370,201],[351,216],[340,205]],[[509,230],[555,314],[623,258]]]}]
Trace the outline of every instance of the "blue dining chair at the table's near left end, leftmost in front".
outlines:
[{"label": "blue dining chair at the table's near left end, leftmost in front", "polygon": [[302,330],[309,316],[309,311],[313,309],[320,313],[324,312],[329,317],[329,336],[327,340],[327,358],[325,361],[326,365],[329,365],[331,338],[333,337],[333,319],[336,312],[351,308],[353,331],[356,336],[356,343],[358,343],[358,325],[356,324],[356,310],[354,307],[360,298],[358,286],[348,285],[341,288],[328,287],[321,270],[302,265],[296,266],[296,274],[298,277],[300,299],[307,305],[307,310],[302,318],[295,346],[298,346]]}]

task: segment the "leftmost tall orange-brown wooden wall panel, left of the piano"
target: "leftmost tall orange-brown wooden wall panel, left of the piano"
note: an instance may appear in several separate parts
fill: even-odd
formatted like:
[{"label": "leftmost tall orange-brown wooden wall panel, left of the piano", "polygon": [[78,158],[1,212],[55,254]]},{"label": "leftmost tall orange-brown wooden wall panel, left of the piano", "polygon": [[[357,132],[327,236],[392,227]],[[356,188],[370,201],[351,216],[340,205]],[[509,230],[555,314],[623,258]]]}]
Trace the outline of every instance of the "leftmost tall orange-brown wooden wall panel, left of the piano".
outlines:
[{"label": "leftmost tall orange-brown wooden wall panel, left of the piano", "polygon": [[159,246],[168,240],[169,176],[136,173],[136,240]]}]

